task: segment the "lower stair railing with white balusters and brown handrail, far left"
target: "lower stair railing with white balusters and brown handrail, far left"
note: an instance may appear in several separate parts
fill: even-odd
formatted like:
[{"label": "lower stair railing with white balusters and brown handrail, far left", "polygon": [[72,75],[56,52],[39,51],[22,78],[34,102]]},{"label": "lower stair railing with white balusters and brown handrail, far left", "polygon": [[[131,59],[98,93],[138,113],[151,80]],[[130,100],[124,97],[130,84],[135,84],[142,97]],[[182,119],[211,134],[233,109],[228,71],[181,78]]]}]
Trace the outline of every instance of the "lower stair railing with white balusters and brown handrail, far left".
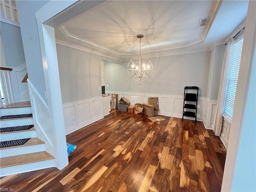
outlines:
[{"label": "lower stair railing with white balusters and brown handrail, far left", "polygon": [[[10,80],[10,72],[12,68],[0,67],[0,74],[1,74],[1,92],[4,98],[4,105],[14,103],[14,97],[12,93],[12,85]],[[3,102],[3,101],[1,101]]]}]

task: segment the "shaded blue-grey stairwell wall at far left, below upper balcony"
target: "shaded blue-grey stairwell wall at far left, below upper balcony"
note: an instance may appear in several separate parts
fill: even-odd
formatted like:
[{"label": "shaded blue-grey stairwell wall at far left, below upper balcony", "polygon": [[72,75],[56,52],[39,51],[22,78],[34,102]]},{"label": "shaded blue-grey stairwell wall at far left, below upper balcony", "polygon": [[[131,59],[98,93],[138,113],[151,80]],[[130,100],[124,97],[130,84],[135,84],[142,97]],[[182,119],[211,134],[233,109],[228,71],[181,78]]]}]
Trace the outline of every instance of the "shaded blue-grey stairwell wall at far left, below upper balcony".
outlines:
[{"label": "shaded blue-grey stairwell wall at far left, below upper balcony", "polygon": [[20,28],[1,22],[1,39],[7,67],[20,67],[25,63]]}]

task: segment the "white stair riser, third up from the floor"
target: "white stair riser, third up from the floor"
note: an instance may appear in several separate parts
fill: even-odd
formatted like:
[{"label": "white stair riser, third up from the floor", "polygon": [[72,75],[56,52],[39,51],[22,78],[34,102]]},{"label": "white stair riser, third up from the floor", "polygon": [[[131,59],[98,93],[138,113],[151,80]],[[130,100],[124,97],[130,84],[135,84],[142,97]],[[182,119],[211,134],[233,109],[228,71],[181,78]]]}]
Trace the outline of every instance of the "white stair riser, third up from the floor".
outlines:
[{"label": "white stair riser, third up from the floor", "polygon": [[10,141],[15,139],[24,139],[36,137],[36,131],[24,131],[24,132],[15,132],[15,133],[5,133],[0,134],[0,141]]}]

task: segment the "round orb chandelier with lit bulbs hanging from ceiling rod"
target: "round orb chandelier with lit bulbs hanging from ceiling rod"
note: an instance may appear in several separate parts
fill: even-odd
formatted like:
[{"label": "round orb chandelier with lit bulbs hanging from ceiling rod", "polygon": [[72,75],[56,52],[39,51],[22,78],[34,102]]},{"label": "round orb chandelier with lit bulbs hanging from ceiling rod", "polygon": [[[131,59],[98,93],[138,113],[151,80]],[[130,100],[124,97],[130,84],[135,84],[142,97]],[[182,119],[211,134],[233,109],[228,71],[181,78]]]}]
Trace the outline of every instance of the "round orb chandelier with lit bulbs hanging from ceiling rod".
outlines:
[{"label": "round orb chandelier with lit bulbs hanging from ceiling rod", "polygon": [[[137,38],[140,38],[140,42],[141,38],[143,37],[144,35],[137,35]],[[150,78],[153,66],[151,61],[148,58],[142,56],[140,52],[139,56],[136,56],[130,60],[127,70],[128,74],[133,80],[142,82]]]}]

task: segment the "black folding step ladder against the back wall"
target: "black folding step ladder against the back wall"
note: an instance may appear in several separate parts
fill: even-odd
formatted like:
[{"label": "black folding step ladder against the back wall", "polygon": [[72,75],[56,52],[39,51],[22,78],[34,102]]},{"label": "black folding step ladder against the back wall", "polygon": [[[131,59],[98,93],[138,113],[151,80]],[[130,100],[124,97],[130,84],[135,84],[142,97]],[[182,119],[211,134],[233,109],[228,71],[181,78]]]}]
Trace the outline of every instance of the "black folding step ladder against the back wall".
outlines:
[{"label": "black folding step ladder against the back wall", "polygon": [[[191,93],[191,90],[196,90],[196,93],[194,93],[195,91]],[[196,86],[186,86],[184,88],[182,120],[184,116],[194,117],[196,122],[198,90],[199,88]],[[184,109],[190,109],[190,110],[184,110]]]}]

